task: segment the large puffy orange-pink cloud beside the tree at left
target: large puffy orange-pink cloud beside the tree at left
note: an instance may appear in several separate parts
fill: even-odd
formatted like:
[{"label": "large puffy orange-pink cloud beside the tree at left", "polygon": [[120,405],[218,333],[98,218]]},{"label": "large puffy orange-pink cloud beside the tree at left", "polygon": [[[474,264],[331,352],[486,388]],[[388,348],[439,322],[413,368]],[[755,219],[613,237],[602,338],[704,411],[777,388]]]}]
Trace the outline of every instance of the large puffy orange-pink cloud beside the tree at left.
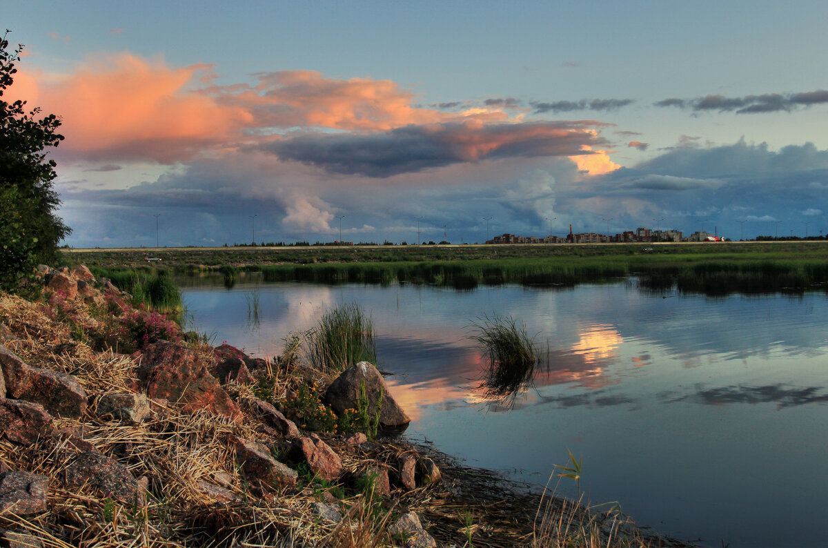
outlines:
[{"label": "large puffy orange-pink cloud beside the tree at left", "polygon": [[61,78],[18,72],[12,94],[60,116],[61,154],[172,163],[231,141],[253,121],[242,108],[192,89],[203,72],[204,65],[171,69],[120,54]]}]

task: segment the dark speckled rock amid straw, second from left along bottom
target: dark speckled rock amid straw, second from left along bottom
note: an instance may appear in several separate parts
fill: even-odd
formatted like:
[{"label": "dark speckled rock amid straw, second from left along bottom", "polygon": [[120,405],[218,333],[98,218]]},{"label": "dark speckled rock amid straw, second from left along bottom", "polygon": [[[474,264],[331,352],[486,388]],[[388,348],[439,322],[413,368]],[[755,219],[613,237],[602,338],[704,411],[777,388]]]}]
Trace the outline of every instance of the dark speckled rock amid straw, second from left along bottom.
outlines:
[{"label": "dark speckled rock amid straw, second from left along bottom", "polygon": [[67,484],[89,483],[103,497],[139,506],[146,501],[147,478],[136,479],[125,465],[103,454],[89,451],[79,454],[75,462],[66,468],[65,474]]}]

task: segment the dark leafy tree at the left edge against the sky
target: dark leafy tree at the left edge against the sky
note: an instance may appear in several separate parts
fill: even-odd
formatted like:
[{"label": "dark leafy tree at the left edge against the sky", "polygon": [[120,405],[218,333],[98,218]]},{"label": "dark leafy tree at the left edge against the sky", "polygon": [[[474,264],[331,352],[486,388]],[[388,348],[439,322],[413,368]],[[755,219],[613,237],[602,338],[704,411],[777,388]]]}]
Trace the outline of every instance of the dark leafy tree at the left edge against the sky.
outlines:
[{"label": "dark leafy tree at the left edge against the sky", "polygon": [[0,38],[0,289],[16,291],[37,262],[55,259],[57,244],[71,228],[56,214],[56,164],[44,151],[63,140],[60,119],[41,118],[40,108],[26,112],[26,101],[2,98],[23,49],[8,49],[8,32]]}]

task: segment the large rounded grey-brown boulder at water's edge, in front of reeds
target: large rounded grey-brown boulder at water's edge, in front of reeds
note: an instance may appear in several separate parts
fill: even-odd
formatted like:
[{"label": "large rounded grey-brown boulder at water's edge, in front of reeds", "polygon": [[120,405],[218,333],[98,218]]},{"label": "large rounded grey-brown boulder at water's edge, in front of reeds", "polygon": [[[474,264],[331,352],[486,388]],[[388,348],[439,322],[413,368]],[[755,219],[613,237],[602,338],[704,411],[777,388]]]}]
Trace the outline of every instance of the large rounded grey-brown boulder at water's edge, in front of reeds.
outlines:
[{"label": "large rounded grey-brown boulder at water's edge, in front of reeds", "polygon": [[363,382],[368,397],[368,411],[373,412],[376,409],[380,393],[383,395],[383,407],[379,416],[381,426],[404,426],[411,422],[406,412],[402,411],[402,407],[388,392],[383,376],[368,362],[359,362],[336,377],[325,392],[325,402],[337,415],[341,415],[346,409],[357,409],[359,387]]}]

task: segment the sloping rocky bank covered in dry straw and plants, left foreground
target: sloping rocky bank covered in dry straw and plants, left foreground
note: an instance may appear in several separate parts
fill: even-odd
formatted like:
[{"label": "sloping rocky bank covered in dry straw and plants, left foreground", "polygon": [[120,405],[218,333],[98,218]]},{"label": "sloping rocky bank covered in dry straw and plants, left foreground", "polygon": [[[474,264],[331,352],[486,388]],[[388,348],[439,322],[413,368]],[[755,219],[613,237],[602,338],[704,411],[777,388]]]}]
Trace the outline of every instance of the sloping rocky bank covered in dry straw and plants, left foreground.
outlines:
[{"label": "sloping rocky bank covered in dry straw and plants, left foreground", "polygon": [[[19,411],[14,416],[26,417],[6,423],[20,427],[6,427],[0,440],[0,483],[27,478],[26,485],[35,488],[26,493],[42,495],[4,503],[0,528],[23,530],[42,546],[210,546],[233,541],[416,546],[411,542],[426,536],[397,527],[400,518],[414,512],[440,546],[662,542],[619,514],[594,513],[573,502],[523,492],[493,473],[465,468],[432,449],[392,439],[362,441],[314,433],[308,421],[294,424],[296,431],[291,431],[285,422],[273,422],[267,406],[259,402],[285,404],[280,405],[284,410],[296,399],[290,394],[310,391],[314,382],[321,392],[332,379],[282,358],[250,360],[250,382],[220,384],[217,378],[225,377],[219,373],[222,363],[229,358],[248,363],[249,358],[229,345],[214,348],[181,332],[163,315],[130,305],[128,296],[107,290],[99,280],[87,278],[79,284],[76,275],[64,277],[75,282],[79,294],[53,284],[33,302],[0,296],[0,343],[23,364],[2,364],[4,408],[13,407]],[[167,397],[160,397],[147,377],[147,360],[168,348],[179,356],[170,376],[184,379],[185,385],[179,392],[167,387]],[[133,349],[137,353],[123,353]],[[196,363],[205,371],[188,378],[199,370]],[[26,374],[10,375],[10,370]],[[46,397],[48,391],[31,389],[36,385],[31,382],[28,388],[22,386],[26,383],[20,377],[41,374],[65,381],[76,406],[58,406]],[[203,384],[207,377],[212,379],[209,387]],[[198,390],[190,386],[196,381]],[[194,392],[213,397],[190,399]],[[107,406],[122,400],[132,403]],[[147,410],[138,413],[141,401]],[[314,401],[313,406],[324,406]],[[36,428],[34,417],[41,421]],[[299,413],[295,418],[307,417]],[[341,468],[334,477],[323,478],[323,470],[314,469],[314,458],[297,456],[296,448],[305,445],[299,440],[308,439],[339,458]],[[266,448],[264,454],[241,458],[260,445]],[[256,459],[260,464],[251,473],[248,463]],[[292,473],[270,461],[286,464]],[[439,468],[439,481],[426,482],[416,472],[404,478],[403,462],[412,463],[416,471],[430,461]],[[384,488],[377,480],[383,471],[388,493],[380,494]],[[436,474],[432,469],[427,475]],[[0,493],[6,496],[8,489],[0,488]],[[667,539],[663,541],[667,546]]]}]

